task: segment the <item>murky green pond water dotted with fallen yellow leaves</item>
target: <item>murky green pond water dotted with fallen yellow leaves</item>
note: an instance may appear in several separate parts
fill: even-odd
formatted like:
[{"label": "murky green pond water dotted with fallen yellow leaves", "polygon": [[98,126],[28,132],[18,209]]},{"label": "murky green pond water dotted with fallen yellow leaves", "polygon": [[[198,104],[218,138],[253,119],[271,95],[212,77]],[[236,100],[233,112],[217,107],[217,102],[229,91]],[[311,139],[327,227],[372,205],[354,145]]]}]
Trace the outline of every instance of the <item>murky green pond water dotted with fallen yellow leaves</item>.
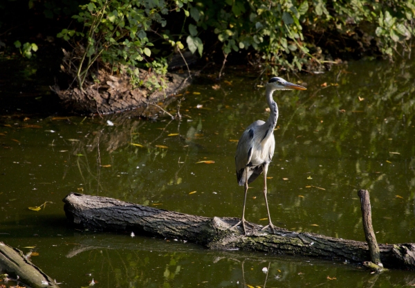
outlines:
[{"label": "murky green pond water dotted with fallen yellow leaves", "polygon": [[[378,242],[415,242],[414,66],[413,61],[361,61],[301,79],[280,75],[308,90],[274,93],[279,120],[268,201],[275,225],[365,241],[357,196],[364,188],[370,192]],[[241,67],[226,72],[219,89],[203,75],[177,97],[183,97],[181,121],[162,114],[156,120],[124,114],[57,118],[53,108],[34,114],[30,99],[35,96],[25,93],[21,97],[30,99],[22,107],[8,102],[0,110],[0,240],[32,251],[30,260],[62,287],[87,287],[91,280],[95,287],[415,283],[410,271],[373,275],[338,261],[209,251],[190,242],[130,237],[131,231],[79,231],[66,224],[62,199],[69,192],[207,217],[240,217],[237,140],[268,112],[257,73]],[[53,97],[32,100],[46,106]],[[176,114],[176,104],[164,109]],[[250,187],[246,219],[266,225],[262,181]],[[29,209],[46,201],[42,210]]]}]

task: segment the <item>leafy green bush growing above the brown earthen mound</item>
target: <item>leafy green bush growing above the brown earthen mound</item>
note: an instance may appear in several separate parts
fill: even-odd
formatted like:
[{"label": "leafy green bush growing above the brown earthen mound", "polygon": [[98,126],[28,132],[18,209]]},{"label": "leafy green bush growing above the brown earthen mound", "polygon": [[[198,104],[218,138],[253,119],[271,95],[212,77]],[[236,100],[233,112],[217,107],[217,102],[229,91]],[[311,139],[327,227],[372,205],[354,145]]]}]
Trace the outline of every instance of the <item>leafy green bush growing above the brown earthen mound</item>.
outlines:
[{"label": "leafy green bush growing above the brown earthen mound", "polygon": [[[91,66],[98,60],[111,65],[113,71],[126,71],[131,75],[133,84],[140,84],[138,66],[143,61],[149,62],[151,47],[154,46],[147,34],[154,32],[154,26],[165,27],[167,21],[163,16],[172,8],[180,11],[185,3],[187,0],[172,3],[158,0],[91,0],[80,6],[81,12],[73,18],[83,24],[84,30],[64,29],[57,35],[67,41],[81,39],[84,42],[80,49],[80,62],[77,63],[79,87],[82,89]],[[160,36],[172,46],[184,48],[180,42],[170,40],[167,33]],[[158,64],[165,66],[165,61],[160,60]],[[155,64],[150,66],[159,68]],[[166,69],[154,71],[164,75]],[[158,81],[153,84],[154,87],[161,87]]]}]

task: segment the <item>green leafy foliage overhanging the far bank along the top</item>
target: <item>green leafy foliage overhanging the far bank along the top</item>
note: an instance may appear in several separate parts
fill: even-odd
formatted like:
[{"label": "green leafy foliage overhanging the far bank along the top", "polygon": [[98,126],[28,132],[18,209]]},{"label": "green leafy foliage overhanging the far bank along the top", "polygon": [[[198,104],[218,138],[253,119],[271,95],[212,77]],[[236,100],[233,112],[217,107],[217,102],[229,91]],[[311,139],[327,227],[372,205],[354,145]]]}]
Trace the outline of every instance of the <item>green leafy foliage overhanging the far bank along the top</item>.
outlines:
[{"label": "green leafy foliage overhanging the far bank along the top", "polygon": [[[84,30],[64,29],[58,37],[84,43],[77,72],[80,87],[97,60],[109,63],[114,71],[130,67],[123,71],[136,77],[133,84],[140,84],[136,68],[143,62],[147,68],[154,68],[161,63],[154,59],[160,51],[173,53],[185,48],[202,56],[210,31],[216,34],[225,55],[255,51],[250,54],[257,62],[278,74],[281,69],[301,70],[311,62],[331,62],[328,55],[333,52],[360,49],[359,53],[369,51],[392,59],[399,46],[410,51],[409,39],[415,35],[415,0],[381,2],[91,0],[73,16]],[[176,12],[181,13],[166,17]],[[181,30],[169,27],[167,21],[172,19],[175,24],[177,19],[183,23]],[[166,45],[160,49],[160,43],[167,44],[167,49]],[[165,69],[154,71],[165,73]],[[157,82],[154,87],[159,85]]]}]

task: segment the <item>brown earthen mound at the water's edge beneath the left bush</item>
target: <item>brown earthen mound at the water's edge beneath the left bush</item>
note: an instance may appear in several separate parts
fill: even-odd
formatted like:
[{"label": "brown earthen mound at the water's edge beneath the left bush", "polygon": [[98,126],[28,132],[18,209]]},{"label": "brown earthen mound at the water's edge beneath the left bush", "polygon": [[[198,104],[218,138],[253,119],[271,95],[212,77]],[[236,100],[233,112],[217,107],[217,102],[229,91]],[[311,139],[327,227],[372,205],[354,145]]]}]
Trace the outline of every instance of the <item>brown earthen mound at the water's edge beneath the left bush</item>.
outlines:
[{"label": "brown earthen mound at the water's edge beneath the left bush", "polygon": [[68,75],[68,87],[55,84],[50,87],[62,101],[62,105],[77,114],[111,114],[134,110],[140,116],[146,114],[152,103],[167,100],[190,84],[189,73],[167,73],[163,79],[151,71],[140,69],[140,81],[164,82],[163,88],[150,89],[144,85],[133,87],[126,73],[113,73],[109,66],[101,64],[93,77],[84,82],[83,89],[77,87],[73,55],[64,51],[62,72]]}]

